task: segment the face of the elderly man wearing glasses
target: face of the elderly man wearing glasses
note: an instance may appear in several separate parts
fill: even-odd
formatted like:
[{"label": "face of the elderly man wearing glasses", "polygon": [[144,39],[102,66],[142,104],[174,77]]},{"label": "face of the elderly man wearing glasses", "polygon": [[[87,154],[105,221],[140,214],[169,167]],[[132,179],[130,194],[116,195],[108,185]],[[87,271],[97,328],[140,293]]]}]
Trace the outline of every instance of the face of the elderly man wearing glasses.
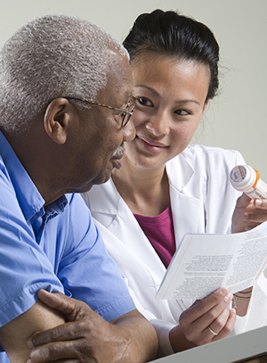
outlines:
[{"label": "face of the elderly man wearing glasses", "polygon": [[[97,101],[125,110],[132,94],[131,67],[126,56],[111,53],[110,59],[112,69],[108,84]],[[82,193],[94,184],[105,183],[112,169],[120,168],[123,142],[134,138],[135,129],[131,120],[121,128],[119,112],[98,105],[79,112],[79,115],[73,147],[75,162],[72,164],[75,168],[71,168],[74,171],[70,179],[75,181],[71,191],[75,188],[76,192]]]}]

